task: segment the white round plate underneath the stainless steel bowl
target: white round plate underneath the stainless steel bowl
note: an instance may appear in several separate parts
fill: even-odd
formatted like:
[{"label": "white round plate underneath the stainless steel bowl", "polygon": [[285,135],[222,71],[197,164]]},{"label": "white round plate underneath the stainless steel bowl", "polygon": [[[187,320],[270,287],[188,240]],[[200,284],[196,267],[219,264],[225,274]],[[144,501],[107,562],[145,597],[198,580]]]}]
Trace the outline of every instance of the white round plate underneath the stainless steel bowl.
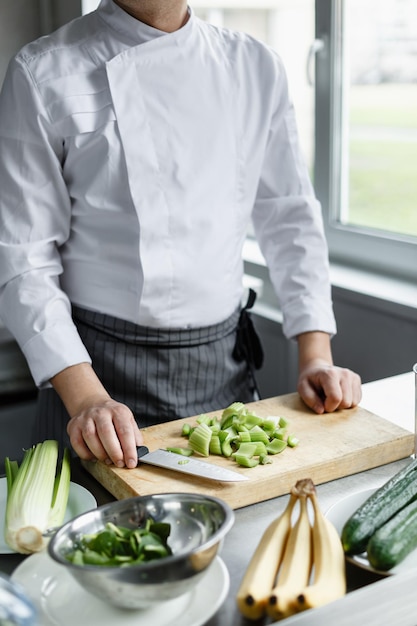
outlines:
[{"label": "white round plate underneath the stainless steel bowl", "polygon": [[229,572],[216,557],[193,591],[151,609],[130,611],[85,591],[46,552],[28,557],[12,579],[34,602],[39,626],[201,626],[223,604],[230,585]]}]

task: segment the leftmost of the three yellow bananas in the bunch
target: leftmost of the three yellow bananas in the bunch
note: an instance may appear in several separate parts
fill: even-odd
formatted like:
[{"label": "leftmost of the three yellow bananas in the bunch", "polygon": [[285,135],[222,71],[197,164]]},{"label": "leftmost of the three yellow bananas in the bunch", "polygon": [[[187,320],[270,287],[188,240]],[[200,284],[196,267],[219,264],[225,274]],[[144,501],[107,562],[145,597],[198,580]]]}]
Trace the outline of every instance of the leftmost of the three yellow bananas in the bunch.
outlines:
[{"label": "leftmost of the three yellow bananas in the bunch", "polygon": [[236,600],[244,617],[258,620],[266,613],[284,548],[291,529],[291,515],[297,496],[290,494],[284,512],[265,530],[242,579]]}]

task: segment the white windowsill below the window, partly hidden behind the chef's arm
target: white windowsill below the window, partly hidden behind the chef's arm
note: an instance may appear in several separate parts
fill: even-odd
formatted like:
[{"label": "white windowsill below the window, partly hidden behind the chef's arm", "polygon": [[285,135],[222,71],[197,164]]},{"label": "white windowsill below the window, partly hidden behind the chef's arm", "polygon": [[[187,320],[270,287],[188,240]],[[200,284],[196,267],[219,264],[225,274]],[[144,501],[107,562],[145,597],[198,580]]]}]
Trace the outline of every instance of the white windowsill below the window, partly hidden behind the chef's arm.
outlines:
[{"label": "white windowsill below the window, partly hidden behind the chef's arm", "polygon": [[[253,240],[246,240],[243,258],[251,265],[266,268],[265,259]],[[250,274],[250,270],[247,273]],[[330,279],[333,287],[338,289],[408,307],[417,312],[417,284],[411,281],[338,263],[330,264]]]}]

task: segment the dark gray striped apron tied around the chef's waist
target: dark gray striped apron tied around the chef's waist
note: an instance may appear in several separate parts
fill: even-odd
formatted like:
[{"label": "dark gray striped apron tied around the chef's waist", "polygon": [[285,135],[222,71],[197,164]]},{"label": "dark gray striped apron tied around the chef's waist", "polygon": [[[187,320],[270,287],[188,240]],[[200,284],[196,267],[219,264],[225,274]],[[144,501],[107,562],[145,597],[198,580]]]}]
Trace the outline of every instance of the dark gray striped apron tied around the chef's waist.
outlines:
[{"label": "dark gray striped apron tied around the chef's waist", "polygon": [[[247,313],[253,300],[224,322],[202,328],[148,328],[77,306],[73,319],[104,387],[145,427],[256,399],[259,359],[248,349],[248,337],[257,340]],[[68,419],[55,390],[40,390],[35,441],[52,438],[68,446]]]}]

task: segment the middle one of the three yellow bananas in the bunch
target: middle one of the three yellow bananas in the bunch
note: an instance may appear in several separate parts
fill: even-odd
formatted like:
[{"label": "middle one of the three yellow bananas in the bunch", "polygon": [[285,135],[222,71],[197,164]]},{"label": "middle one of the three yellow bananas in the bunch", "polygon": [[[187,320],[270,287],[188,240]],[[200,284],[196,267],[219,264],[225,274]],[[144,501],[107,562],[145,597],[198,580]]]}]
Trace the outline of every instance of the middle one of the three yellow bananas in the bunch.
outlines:
[{"label": "middle one of the three yellow bananas in the bunch", "polygon": [[267,613],[274,620],[289,617],[299,610],[297,597],[310,579],[312,540],[307,498],[299,492],[298,500],[299,516],[288,536],[278,580],[267,605]]}]

